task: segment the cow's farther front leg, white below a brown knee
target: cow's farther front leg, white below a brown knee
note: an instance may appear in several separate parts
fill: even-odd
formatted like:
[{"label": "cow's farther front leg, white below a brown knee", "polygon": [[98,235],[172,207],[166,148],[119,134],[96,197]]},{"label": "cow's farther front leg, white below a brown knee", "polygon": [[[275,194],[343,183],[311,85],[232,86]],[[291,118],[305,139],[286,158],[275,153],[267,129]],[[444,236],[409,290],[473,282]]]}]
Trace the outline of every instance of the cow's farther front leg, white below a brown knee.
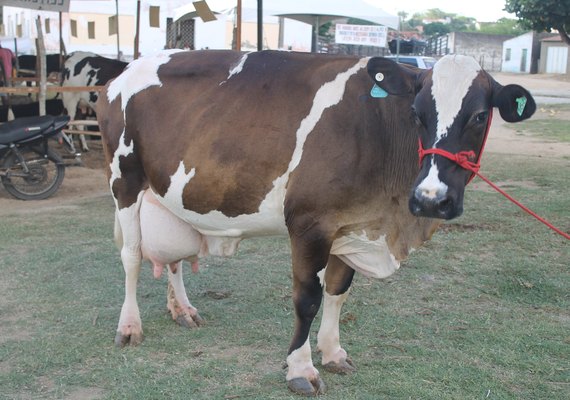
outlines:
[{"label": "cow's farther front leg, white below a brown knee", "polygon": [[323,318],[317,335],[317,349],[322,353],[323,367],[333,373],[347,374],[356,368],[340,345],[340,311],[346,298],[354,270],[336,256],[330,256],[324,273]]}]

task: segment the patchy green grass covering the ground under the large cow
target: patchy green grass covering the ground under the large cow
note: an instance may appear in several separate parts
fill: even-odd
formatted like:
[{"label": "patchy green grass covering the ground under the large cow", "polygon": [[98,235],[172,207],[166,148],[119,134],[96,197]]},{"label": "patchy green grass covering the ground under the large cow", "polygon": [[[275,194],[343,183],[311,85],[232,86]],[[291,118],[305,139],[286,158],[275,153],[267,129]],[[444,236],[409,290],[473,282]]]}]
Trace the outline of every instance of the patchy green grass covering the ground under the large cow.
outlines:
[{"label": "patchy green grass covering the ground under the large cow", "polygon": [[[568,161],[486,154],[483,165],[570,231]],[[321,370],[323,398],[570,398],[570,245],[496,193],[469,188],[465,209],[392,277],[357,276],[341,337],[358,371]],[[187,268],[208,322],[196,330],[170,319],[166,279],[145,265],[145,341],[117,349],[124,277],[112,224],[110,198],[3,217],[1,399],[296,398],[282,369],[293,324],[286,239],[244,241],[235,257]]]}]

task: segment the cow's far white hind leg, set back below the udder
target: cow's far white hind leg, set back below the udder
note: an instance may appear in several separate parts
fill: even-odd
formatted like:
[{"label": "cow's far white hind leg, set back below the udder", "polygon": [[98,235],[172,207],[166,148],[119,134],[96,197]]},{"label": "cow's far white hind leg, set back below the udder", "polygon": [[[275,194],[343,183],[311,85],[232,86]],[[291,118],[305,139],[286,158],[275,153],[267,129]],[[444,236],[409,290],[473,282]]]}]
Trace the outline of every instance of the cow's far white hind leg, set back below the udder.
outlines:
[{"label": "cow's far white hind leg, set back below the udder", "polygon": [[[197,261],[196,261],[197,262]],[[166,306],[172,319],[186,328],[197,328],[204,324],[198,310],[190,304],[182,276],[182,261],[170,264],[168,268],[168,292]]]}]

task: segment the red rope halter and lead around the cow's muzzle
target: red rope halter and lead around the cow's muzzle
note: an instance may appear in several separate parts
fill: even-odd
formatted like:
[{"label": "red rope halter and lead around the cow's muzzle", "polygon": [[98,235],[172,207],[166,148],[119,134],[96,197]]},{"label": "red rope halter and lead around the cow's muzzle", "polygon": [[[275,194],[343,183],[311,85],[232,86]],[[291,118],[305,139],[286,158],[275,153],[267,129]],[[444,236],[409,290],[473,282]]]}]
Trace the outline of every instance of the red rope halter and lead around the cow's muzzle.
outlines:
[{"label": "red rope halter and lead around the cow's muzzle", "polygon": [[[530,208],[522,205],[519,201],[515,200],[512,196],[510,196],[504,190],[502,190],[497,185],[495,185],[493,182],[491,182],[487,177],[485,177],[479,173],[479,169],[481,168],[481,164],[480,164],[481,155],[483,154],[483,149],[485,148],[485,143],[487,142],[487,136],[489,135],[489,130],[491,128],[491,119],[492,118],[493,118],[493,110],[491,109],[489,112],[489,119],[487,120],[487,129],[485,130],[485,137],[483,138],[483,144],[481,145],[481,150],[479,151],[479,155],[477,156],[476,159],[475,159],[475,152],[473,150],[460,151],[458,153],[453,154],[453,153],[450,153],[449,151],[446,151],[443,149],[437,149],[437,148],[424,149],[423,145],[422,145],[422,140],[419,139],[418,155],[419,155],[420,165],[421,165],[424,157],[429,155],[429,154],[434,154],[434,155],[437,154],[437,155],[440,155],[442,157],[445,157],[445,158],[455,162],[461,168],[472,172],[467,183],[471,182],[473,180],[473,178],[475,178],[475,175],[477,175],[479,178],[483,179],[483,181],[488,183],[489,186],[491,186],[497,192],[501,193],[503,196],[505,196],[507,199],[509,199],[515,205],[520,207],[523,211],[532,215],[534,218],[536,218],[537,220],[542,222],[544,225],[546,225],[547,227],[552,229],[554,232],[556,232],[559,235],[563,236],[564,238],[570,240],[570,235],[568,233],[562,231],[561,229],[558,229],[557,227],[552,225],[550,222],[548,222],[546,219],[544,219],[541,216],[539,216],[538,214],[536,214]],[[475,161],[471,161],[473,159],[475,159]]]}]

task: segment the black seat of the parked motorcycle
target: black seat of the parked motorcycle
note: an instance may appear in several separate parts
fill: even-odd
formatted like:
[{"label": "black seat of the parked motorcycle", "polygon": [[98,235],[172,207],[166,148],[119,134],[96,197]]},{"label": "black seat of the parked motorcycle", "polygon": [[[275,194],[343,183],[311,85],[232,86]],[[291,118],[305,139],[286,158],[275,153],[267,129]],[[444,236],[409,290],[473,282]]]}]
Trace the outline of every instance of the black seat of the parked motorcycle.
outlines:
[{"label": "black seat of the parked motorcycle", "polygon": [[9,144],[31,139],[55,125],[61,126],[69,121],[67,115],[41,115],[35,117],[22,117],[0,125],[0,144]]}]

